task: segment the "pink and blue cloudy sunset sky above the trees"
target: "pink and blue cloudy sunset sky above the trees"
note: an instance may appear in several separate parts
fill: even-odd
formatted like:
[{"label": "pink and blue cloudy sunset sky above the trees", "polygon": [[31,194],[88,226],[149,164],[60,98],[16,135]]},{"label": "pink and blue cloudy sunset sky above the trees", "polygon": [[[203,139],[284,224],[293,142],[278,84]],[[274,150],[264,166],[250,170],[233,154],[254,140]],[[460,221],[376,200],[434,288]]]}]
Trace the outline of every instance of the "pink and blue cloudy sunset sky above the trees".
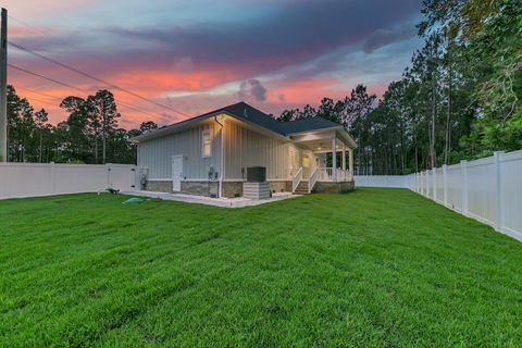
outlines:
[{"label": "pink and blue cloudy sunset sky above the trees", "polygon": [[[344,98],[359,83],[381,96],[419,48],[420,0],[8,0],[10,41],[187,115],[245,100],[275,115]],[[9,47],[9,62],[96,92],[103,84]],[[8,83],[50,121],[86,97],[10,69]],[[111,89],[111,88],[110,88]],[[111,89],[120,125],[187,115]],[[38,91],[40,94],[36,94]],[[44,95],[41,95],[44,94]],[[150,115],[151,114],[151,115]]]}]

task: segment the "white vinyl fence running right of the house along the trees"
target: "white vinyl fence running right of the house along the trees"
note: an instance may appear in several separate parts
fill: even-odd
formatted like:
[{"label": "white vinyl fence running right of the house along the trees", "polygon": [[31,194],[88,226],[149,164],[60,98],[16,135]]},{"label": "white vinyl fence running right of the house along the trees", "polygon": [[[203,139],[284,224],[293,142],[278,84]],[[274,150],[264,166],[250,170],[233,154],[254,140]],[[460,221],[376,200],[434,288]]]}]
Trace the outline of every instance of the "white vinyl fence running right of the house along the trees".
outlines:
[{"label": "white vinyl fence running right of the house along the trees", "polygon": [[522,150],[403,176],[355,176],[356,186],[409,188],[522,241]]}]

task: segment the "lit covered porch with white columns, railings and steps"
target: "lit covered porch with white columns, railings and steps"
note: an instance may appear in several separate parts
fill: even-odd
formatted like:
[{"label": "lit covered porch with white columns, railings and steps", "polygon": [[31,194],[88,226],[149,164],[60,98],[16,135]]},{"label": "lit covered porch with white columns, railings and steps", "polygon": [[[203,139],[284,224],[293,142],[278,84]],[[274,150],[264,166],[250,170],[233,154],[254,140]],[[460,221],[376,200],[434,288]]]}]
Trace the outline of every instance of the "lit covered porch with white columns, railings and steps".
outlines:
[{"label": "lit covered porch with white columns, railings and steps", "polygon": [[356,142],[345,128],[294,134],[291,138],[300,150],[299,166],[291,175],[293,192],[344,191],[352,188]]}]

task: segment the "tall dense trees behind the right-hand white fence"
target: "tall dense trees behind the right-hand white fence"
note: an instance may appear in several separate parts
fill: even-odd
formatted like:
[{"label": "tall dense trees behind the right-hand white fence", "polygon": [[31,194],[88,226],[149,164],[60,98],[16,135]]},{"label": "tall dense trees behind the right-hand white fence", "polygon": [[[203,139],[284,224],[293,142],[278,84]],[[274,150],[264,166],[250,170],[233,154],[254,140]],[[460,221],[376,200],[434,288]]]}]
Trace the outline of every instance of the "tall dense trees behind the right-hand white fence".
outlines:
[{"label": "tall dense trees behind the right-hand white fence", "polygon": [[382,99],[358,86],[318,110],[358,141],[360,174],[408,174],[495,150],[522,149],[522,7],[519,0],[424,0],[423,47]]}]

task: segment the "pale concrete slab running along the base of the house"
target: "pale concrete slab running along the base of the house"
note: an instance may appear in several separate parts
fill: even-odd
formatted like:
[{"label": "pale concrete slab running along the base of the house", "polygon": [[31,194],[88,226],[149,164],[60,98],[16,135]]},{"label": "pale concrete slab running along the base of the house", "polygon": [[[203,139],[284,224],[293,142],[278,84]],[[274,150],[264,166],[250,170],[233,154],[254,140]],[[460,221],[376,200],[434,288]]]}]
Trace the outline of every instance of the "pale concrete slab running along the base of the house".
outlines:
[{"label": "pale concrete slab running along the base of the house", "polygon": [[157,192],[157,191],[146,191],[146,190],[124,191],[122,194],[123,195],[128,195],[128,196],[149,197],[149,198],[158,198],[158,199],[163,199],[163,200],[175,200],[175,201],[179,201],[179,202],[199,203],[199,204],[223,207],[223,208],[252,207],[252,206],[259,206],[259,204],[275,202],[275,201],[278,201],[278,200],[283,200],[283,199],[299,197],[299,195],[293,195],[290,192],[277,192],[277,194],[273,194],[272,198],[260,199],[260,200],[253,200],[253,199],[248,199],[248,198],[244,198],[244,197],[210,198],[210,197],[203,197],[203,196],[194,196],[194,195],[184,195],[184,194],[167,194],[167,192]]}]

